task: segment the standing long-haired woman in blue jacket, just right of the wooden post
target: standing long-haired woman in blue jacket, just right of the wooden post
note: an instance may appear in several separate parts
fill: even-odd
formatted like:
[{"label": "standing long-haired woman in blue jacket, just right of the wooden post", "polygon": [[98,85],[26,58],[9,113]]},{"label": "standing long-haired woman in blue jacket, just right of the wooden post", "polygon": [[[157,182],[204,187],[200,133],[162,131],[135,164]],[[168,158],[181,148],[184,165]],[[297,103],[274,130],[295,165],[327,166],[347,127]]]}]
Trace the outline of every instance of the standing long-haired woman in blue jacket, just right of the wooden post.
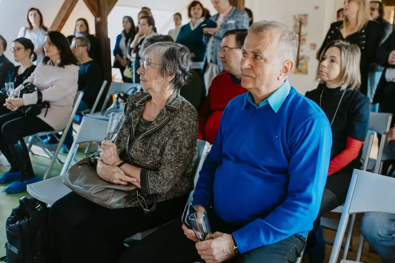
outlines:
[{"label": "standing long-haired woman in blue jacket, just right of the wooden post", "polygon": [[114,48],[114,68],[120,70],[123,82],[132,82],[132,79],[127,78],[123,75],[123,71],[126,67],[130,66],[130,60],[128,57],[128,49],[131,41],[135,35],[135,25],[133,18],[130,16],[124,16],[122,19],[123,30],[117,36]]}]

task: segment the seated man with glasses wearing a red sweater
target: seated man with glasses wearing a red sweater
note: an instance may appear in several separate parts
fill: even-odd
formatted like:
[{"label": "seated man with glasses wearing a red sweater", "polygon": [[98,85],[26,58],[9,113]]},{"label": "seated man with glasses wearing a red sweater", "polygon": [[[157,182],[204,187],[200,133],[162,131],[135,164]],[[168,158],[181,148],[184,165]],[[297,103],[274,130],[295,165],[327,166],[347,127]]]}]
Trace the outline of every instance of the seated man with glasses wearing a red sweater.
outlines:
[{"label": "seated man with glasses wearing a red sweater", "polygon": [[241,86],[240,62],[241,47],[247,37],[247,29],[234,29],[225,32],[221,41],[218,58],[222,61],[224,72],[217,75],[208,90],[208,96],[199,110],[199,124],[197,138],[210,143],[218,133],[219,122],[226,105],[233,98],[246,93]]}]

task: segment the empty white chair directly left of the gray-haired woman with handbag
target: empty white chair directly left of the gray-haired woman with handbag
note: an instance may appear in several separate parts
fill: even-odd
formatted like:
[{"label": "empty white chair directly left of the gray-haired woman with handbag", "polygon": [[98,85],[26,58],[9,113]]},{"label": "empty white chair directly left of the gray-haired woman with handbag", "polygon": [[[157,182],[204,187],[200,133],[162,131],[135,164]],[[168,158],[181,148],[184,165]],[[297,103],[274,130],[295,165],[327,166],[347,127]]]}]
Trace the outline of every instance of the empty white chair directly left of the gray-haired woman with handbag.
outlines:
[{"label": "empty white chair directly left of the gray-haired woman with handbag", "polygon": [[83,117],[76,139],[70,149],[60,176],[40,181],[27,186],[27,190],[36,199],[52,205],[71,190],[63,185],[63,175],[70,168],[78,147],[86,142],[101,142],[106,137],[107,121]]}]

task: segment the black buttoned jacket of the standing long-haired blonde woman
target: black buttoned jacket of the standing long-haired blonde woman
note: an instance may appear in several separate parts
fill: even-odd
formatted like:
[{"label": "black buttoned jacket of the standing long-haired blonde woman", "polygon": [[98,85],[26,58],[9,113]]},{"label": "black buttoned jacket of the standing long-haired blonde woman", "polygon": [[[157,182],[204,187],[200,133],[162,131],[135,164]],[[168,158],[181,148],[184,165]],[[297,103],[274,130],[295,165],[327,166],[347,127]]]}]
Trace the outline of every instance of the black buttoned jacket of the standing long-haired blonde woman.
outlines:
[{"label": "black buttoned jacket of the standing long-haired blonde woman", "polygon": [[318,51],[318,56],[321,55],[325,46],[332,40],[341,39],[352,44],[356,44],[361,50],[361,62],[359,67],[361,71],[361,86],[359,90],[360,92],[362,92],[362,94],[366,95],[369,65],[372,64],[372,62],[374,61],[376,51],[381,41],[381,26],[377,21],[368,21],[359,32],[356,32],[348,36],[347,38],[343,38],[343,35],[340,32],[342,26],[343,21],[331,24],[330,29],[322,43],[322,46]]}]

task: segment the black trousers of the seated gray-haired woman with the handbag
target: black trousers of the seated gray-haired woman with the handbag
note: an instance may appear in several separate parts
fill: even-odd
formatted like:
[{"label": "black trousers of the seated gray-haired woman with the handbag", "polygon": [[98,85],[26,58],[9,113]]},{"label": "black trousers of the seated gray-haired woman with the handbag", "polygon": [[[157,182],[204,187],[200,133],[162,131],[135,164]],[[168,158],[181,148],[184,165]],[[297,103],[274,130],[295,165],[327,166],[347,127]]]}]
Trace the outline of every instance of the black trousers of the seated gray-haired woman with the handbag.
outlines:
[{"label": "black trousers of the seated gray-haired woman with the handbag", "polygon": [[50,209],[48,263],[116,263],[125,238],[181,218],[188,196],[146,214],[140,206],[108,209],[71,192]]}]

